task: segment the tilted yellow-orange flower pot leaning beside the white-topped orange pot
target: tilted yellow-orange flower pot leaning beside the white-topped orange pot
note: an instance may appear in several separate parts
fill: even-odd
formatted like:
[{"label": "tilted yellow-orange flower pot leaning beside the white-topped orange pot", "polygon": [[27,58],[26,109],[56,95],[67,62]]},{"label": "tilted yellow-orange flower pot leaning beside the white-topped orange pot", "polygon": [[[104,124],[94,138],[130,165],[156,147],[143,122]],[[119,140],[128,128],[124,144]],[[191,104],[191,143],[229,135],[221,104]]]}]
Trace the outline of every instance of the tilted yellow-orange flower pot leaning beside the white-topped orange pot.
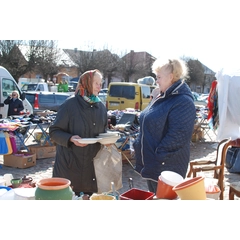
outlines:
[{"label": "tilted yellow-orange flower pot leaning beside the white-topped orange pot", "polygon": [[206,200],[204,177],[188,179],[175,187],[173,191],[177,193],[181,200]]}]

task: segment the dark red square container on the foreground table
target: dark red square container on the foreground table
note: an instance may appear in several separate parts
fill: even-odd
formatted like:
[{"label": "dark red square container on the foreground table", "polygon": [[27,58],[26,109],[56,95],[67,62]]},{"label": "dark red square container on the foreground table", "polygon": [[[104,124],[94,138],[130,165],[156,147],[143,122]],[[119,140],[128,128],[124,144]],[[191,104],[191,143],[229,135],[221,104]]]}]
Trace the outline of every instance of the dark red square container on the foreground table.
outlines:
[{"label": "dark red square container on the foreground table", "polygon": [[153,192],[143,191],[137,188],[132,188],[119,196],[120,200],[152,200],[154,197]]}]

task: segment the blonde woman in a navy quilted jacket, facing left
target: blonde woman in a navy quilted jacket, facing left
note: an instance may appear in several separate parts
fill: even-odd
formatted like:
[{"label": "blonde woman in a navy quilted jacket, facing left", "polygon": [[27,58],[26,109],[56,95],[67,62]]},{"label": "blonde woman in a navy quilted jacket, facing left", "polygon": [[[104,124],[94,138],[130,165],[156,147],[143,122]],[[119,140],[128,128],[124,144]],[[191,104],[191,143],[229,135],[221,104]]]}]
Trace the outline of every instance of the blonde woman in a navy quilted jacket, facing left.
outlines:
[{"label": "blonde woman in a navy quilted jacket, facing left", "polygon": [[149,191],[156,194],[162,171],[186,176],[196,110],[184,81],[188,73],[184,62],[156,60],[152,70],[160,94],[140,114],[140,132],[133,147],[135,171],[147,179]]}]

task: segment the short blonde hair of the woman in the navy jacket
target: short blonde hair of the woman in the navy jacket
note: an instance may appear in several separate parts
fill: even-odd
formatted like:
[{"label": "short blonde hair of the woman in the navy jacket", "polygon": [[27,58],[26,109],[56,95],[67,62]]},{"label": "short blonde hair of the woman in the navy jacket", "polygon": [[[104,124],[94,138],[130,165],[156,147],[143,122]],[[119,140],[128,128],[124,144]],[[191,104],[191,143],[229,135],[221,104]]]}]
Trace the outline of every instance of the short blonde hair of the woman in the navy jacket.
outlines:
[{"label": "short blonde hair of the woman in the navy jacket", "polygon": [[173,74],[173,82],[183,79],[188,75],[188,67],[186,63],[180,59],[169,59],[161,61],[157,59],[152,65],[153,73],[157,74],[160,70],[166,70]]}]

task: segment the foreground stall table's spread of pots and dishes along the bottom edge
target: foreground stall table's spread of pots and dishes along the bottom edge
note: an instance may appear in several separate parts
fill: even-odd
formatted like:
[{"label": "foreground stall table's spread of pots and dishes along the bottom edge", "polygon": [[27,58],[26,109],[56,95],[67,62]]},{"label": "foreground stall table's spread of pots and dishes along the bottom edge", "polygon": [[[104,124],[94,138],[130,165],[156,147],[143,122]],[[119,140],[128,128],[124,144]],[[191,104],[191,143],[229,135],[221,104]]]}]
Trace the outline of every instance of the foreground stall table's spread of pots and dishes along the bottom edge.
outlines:
[{"label": "foreground stall table's spread of pots and dishes along the bottom edge", "polygon": [[[35,183],[26,176],[14,179],[7,175],[3,180],[11,185],[0,186],[0,200],[218,200],[220,194],[219,187],[206,185],[203,176],[183,179],[171,171],[163,171],[159,176],[156,194],[134,187],[119,194],[111,182],[108,192],[91,196],[84,193],[76,196],[70,180],[65,178],[45,178]],[[3,183],[1,178],[0,183]]]}]

